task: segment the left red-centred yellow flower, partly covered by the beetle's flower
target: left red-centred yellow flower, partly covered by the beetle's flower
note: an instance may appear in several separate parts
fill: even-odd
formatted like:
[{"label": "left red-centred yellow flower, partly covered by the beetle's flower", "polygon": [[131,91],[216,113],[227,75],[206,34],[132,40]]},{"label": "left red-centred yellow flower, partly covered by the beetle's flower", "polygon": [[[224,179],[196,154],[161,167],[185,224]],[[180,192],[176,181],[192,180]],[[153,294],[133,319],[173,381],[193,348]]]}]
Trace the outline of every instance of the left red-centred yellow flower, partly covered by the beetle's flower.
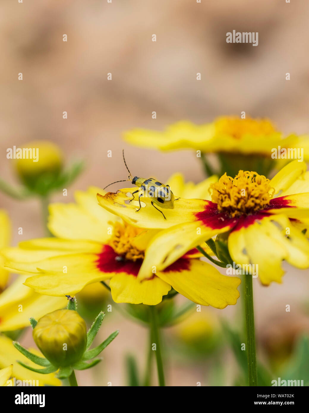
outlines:
[{"label": "left red-centred yellow flower, partly covered by the beetle's flower", "polygon": [[[214,180],[210,178],[191,188],[195,196],[209,196],[209,184]],[[172,185],[178,185],[177,190],[184,193],[192,187],[181,176],[174,176],[174,188]],[[55,238],[22,242],[18,248],[5,251],[8,267],[32,275],[25,285],[40,294],[64,296],[74,295],[90,283],[110,280],[114,301],[148,305],[158,304],[175,285],[178,292],[198,304],[216,308],[236,304],[240,279],[221,275],[213,266],[197,259],[197,250],[183,254],[162,272],[152,268],[150,277],[140,282],[137,275],[145,249],[165,224],[162,227],[160,219],[151,231],[138,228],[139,214],[135,214],[135,220],[124,222],[97,205],[97,192],[102,190],[76,192],[77,204],[50,205],[48,228]],[[192,200],[177,202],[183,206]],[[190,210],[184,214],[184,222],[188,214]],[[175,216],[167,222],[173,225],[177,221]]]}]

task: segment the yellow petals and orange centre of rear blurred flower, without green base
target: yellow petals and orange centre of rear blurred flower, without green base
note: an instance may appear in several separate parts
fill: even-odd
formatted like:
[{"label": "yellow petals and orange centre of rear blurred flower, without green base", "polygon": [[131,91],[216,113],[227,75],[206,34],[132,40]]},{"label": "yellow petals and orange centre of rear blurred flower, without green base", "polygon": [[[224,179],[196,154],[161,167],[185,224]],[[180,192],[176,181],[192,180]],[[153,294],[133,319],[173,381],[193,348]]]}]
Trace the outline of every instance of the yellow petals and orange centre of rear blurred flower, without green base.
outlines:
[{"label": "yellow petals and orange centre of rear blurred flower, without green base", "polygon": [[[278,146],[305,145],[309,149],[309,137],[303,135],[284,137],[269,119],[240,119],[222,116],[211,123],[195,125],[180,121],[165,131],[133,129],[124,133],[124,139],[132,145],[160,150],[194,149],[202,152],[271,155]],[[309,151],[306,152],[307,157]]]}]

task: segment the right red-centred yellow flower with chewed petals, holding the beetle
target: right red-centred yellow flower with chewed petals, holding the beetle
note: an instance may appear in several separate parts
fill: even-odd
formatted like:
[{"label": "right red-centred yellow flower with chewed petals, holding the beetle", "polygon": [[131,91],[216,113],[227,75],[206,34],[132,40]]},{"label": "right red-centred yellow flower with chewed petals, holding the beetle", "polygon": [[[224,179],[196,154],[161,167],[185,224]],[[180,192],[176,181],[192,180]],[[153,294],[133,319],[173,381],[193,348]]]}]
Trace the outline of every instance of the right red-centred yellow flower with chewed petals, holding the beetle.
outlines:
[{"label": "right red-centred yellow flower with chewed petals, holding the beetle", "polygon": [[[239,171],[235,178],[223,175],[211,185],[212,201],[179,199],[165,210],[166,221],[143,198],[138,214],[128,204],[128,189],[99,197],[102,207],[143,228],[166,228],[147,245],[138,279],[150,277],[151,268],[162,271],[201,242],[227,233],[228,251],[236,264],[258,265],[264,285],[281,282],[283,260],[297,268],[309,267],[309,242],[300,229],[309,227],[309,176],[304,162],[293,161],[272,179],[255,172]],[[299,227],[299,228],[297,228]],[[163,280],[180,288],[181,277]]]}]

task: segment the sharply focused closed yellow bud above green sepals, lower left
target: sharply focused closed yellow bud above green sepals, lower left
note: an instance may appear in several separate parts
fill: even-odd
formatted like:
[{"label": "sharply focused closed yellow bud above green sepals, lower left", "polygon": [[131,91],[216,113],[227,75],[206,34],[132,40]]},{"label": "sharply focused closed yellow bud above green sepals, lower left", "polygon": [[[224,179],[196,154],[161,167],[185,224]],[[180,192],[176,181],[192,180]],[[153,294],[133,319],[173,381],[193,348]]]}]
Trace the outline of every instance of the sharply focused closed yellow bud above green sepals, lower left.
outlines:
[{"label": "sharply focused closed yellow bud above green sepals, lower left", "polygon": [[86,323],[76,311],[56,310],[38,320],[33,339],[54,366],[71,366],[86,350]]}]

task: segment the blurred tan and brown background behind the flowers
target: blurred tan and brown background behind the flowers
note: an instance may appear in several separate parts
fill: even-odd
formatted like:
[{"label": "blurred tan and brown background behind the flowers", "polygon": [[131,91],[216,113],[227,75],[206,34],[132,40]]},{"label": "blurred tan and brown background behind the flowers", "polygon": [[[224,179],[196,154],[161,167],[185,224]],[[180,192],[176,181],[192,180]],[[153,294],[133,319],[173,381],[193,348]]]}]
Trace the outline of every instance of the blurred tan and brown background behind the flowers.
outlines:
[{"label": "blurred tan and brown background behind the flowers", "polygon": [[[190,151],[161,154],[129,147],[121,133],[135,127],[162,129],[181,119],[196,123],[219,115],[269,117],[285,133],[309,131],[309,3],[301,0],[2,0],[0,4],[0,174],[16,183],[6,149],[29,140],[57,143],[69,162],[84,158],[86,171],[68,191],[103,187],[125,179],[121,150],[133,175],[174,172],[202,180],[202,167]],[[228,44],[229,31],[259,32],[259,45]],[[67,42],[62,41],[67,34]],[[152,42],[156,34],[157,42]],[[18,81],[22,72],[23,80]],[[112,81],[107,73],[112,73]],[[197,72],[201,81],[196,80]],[[290,81],[285,73],[290,73]],[[68,119],[62,119],[67,111]],[[152,112],[157,119],[152,119]],[[112,150],[112,158],[107,158]],[[63,201],[55,194],[53,201]],[[13,222],[13,243],[43,235],[40,206],[0,194],[0,207]],[[17,228],[24,228],[17,235]],[[260,354],[266,332],[275,326],[308,329],[302,310],[308,271],[289,270],[283,285],[255,282]],[[291,313],[285,312],[290,304]],[[214,310],[233,319],[237,309]],[[305,321],[304,321],[305,320]],[[143,366],[145,330],[118,313],[104,321],[104,336],[121,330],[104,352],[104,369],[84,372],[84,385],[126,384],[124,354]],[[307,327],[306,327],[307,325]],[[272,327],[273,326],[273,327]],[[280,329],[279,329],[280,330]],[[166,332],[169,342],[171,332]],[[26,336],[25,339],[30,336]],[[169,349],[169,385],[209,384],[205,369],[181,363]],[[233,358],[223,356],[228,372]],[[205,371],[204,371],[205,370]],[[226,385],[231,385],[229,374]]]}]

